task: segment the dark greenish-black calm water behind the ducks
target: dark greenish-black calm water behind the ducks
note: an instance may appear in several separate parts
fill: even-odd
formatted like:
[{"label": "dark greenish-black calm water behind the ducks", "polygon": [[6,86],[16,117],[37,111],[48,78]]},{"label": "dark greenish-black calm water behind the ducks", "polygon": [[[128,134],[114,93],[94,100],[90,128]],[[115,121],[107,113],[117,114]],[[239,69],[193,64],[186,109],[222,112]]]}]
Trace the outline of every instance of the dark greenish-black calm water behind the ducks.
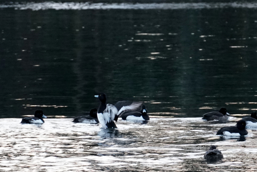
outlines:
[{"label": "dark greenish-black calm water behind the ducks", "polygon": [[77,116],[99,106],[99,92],[111,104],[145,101],[161,116],[256,108],[255,8],[1,8],[0,16],[1,118],[38,108]]}]

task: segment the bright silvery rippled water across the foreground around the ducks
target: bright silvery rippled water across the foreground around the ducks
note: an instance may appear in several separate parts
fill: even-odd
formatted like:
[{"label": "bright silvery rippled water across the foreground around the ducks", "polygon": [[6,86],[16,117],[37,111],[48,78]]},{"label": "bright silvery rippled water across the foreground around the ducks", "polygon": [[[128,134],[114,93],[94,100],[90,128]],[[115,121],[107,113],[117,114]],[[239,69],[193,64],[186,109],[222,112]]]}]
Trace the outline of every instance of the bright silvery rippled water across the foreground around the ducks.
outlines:
[{"label": "bright silvery rippled water across the foreground around the ducks", "polygon": [[[0,171],[256,170],[256,131],[241,138],[215,135],[235,123],[151,118],[146,124],[120,120],[118,129],[103,130],[71,120],[22,125],[21,119],[1,119]],[[203,159],[211,144],[223,152],[223,160]]]}]

